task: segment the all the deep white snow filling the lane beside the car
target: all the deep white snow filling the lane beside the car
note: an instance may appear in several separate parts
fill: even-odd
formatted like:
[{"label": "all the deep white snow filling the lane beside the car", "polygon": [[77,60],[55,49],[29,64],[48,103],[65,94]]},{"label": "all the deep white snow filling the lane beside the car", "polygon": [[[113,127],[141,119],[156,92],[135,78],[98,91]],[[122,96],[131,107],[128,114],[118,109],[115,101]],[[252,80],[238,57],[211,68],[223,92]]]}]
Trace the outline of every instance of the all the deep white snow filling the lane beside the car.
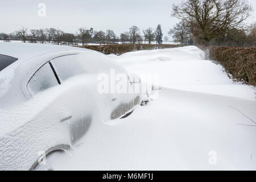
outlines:
[{"label": "all the deep white snow filling the lane beside the car", "polygon": [[91,123],[55,170],[256,169],[255,90],[233,82],[196,47],[110,55],[129,72],[159,75],[159,97],[110,125]]}]

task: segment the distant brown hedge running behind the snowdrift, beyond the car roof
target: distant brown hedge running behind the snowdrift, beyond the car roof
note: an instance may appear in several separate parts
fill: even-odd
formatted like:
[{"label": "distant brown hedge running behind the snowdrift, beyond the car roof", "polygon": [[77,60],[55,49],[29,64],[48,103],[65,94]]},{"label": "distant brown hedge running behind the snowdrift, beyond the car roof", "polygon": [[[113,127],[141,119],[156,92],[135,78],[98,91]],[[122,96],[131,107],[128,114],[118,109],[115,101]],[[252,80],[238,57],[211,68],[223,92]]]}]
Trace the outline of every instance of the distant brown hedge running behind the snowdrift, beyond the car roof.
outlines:
[{"label": "distant brown hedge running behind the snowdrift, beyond the car roof", "polygon": [[105,53],[106,55],[115,54],[122,55],[126,52],[141,51],[141,50],[153,50],[153,49],[164,49],[164,48],[175,48],[181,47],[181,45],[172,44],[110,44],[101,46],[76,46],[86,49],[92,49],[94,51],[99,51]]}]

